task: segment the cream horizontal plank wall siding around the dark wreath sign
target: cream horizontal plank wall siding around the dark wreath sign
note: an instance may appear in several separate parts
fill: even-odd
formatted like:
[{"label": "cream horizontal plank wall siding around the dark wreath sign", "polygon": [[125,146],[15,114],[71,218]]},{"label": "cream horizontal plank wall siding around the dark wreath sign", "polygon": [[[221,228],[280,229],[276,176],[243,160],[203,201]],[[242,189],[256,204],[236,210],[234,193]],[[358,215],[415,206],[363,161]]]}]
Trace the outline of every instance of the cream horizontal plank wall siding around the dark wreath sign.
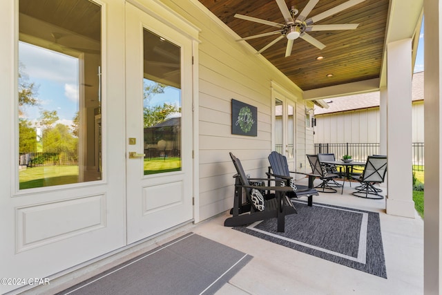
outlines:
[{"label": "cream horizontal plank wall siding around the dark wreath sign", "polygon": [[[253,176],[265,175],[271,152],[271,83],[276,82],[294,97],[302,97],[287,77],[262,57],[238,42],[227,26],[196,0],[164,1],[166,6],[201,29],[198,46],[199,92],[198,149],[199,216],[210,218],[230,209],[233,204],[231,151],[242,161],[244,170]],[[231,134],[231,99],[258,108],[256,137]],[[304,122],[304,102],[298,102]],[[297,127],[302,130],[302,126]],[[313,135],[311,134],[311,142]],[[302,151],[302,150],[301,150]],[[305,155],[299,155],[300,158]]]}]

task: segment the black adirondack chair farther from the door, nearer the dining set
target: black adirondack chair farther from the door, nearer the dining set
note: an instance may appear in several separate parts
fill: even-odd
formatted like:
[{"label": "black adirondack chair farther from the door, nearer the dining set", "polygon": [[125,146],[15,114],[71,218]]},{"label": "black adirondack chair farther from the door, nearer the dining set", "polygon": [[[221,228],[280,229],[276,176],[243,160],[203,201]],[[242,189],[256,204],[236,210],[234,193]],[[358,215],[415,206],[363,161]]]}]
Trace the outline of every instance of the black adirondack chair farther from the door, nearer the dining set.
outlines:
[{"label": "black adirondack chair farther from the door, nearer the dining set", "polygon": [[293,190],[287,193],[289,198],[307,197],[307,204],[313,206],[313,196],[319,196],[318,191],[313,187],[314,176],[309,176],[309,185],[295,184],[291,173],[306,175],[295,171],[289,171],[289,164],[285,155],[281,155],[277,151],[272,151],[269,155],[269,177],[280,179],[284,182],[286,187],[291,187]]}]

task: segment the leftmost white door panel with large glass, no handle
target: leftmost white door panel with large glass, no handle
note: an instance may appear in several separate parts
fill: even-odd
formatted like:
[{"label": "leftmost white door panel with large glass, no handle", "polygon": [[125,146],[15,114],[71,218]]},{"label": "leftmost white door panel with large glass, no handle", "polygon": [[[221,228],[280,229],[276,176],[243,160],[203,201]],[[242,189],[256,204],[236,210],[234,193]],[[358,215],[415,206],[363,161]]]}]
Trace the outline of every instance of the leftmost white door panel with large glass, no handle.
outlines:
[{"label": "leftmost white door panel with large glass, no handle", "polygon": [[124,5],[2,5],[1,294],[126,245]]}]

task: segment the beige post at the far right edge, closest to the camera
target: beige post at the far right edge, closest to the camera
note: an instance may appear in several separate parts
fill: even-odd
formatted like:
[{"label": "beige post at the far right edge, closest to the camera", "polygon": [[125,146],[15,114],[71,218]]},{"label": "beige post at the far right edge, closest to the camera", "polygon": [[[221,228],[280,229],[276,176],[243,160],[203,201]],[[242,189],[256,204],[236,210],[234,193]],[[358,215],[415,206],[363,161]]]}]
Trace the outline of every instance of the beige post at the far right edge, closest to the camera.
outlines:
[{"label": "beige post at the far right edge, closest to the camera", "polygon": [[424,0],[425,11],[425,222],[423,289],[442,294],[442,1]]}]

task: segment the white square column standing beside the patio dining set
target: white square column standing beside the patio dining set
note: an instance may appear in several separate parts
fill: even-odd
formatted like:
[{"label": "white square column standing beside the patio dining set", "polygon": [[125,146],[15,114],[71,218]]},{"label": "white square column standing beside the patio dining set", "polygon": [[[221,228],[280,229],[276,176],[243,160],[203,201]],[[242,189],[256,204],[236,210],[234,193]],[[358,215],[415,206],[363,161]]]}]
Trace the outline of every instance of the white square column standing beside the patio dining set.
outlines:
[{"label": "white square column standing beside the patio dining set", "polygon": [[412,39],[387,44],[387,214],[414,218]]}]

